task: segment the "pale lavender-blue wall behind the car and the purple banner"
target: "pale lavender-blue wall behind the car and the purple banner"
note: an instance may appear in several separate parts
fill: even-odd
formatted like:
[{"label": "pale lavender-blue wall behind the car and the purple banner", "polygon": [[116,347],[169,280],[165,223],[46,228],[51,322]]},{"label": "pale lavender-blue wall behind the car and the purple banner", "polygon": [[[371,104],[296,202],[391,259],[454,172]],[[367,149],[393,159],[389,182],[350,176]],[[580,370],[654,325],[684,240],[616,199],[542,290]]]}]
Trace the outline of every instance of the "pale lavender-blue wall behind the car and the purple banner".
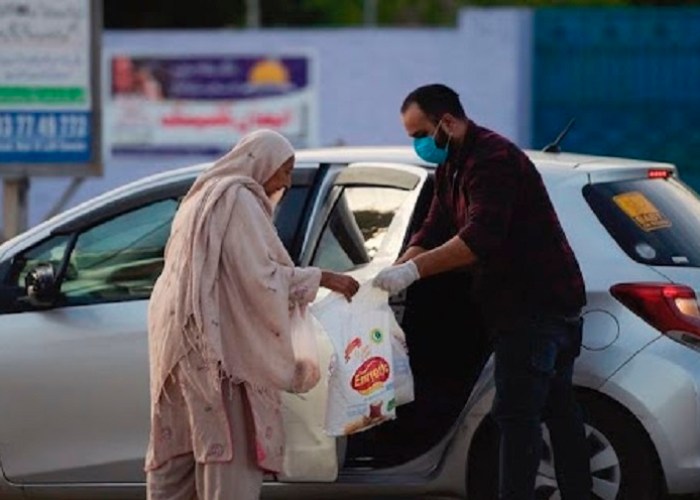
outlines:
[{"label": "pale lavender-blue wall behind the car and the purple banner", "polygon": [[[471,118],[527,147],[530,16],[527,9],[468,8],[455,28],[107,31],[103,51],[311,50],[318,62],[320,145],[408,144],[399,117],[404,96],[418,85],[442,82],[460,94]],[[86,180],[69,206],[191,160],[107,162],[104,176]],[[68,184],[68,179],[32,179],[30,225],[42,220]]]}]

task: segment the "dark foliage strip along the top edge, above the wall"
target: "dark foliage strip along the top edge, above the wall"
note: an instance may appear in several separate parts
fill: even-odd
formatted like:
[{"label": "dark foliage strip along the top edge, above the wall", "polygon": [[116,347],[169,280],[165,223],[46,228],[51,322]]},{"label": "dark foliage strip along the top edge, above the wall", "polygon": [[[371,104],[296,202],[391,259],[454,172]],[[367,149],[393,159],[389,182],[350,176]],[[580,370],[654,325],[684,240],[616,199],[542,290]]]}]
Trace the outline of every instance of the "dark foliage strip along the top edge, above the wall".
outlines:
[{"label": "dark foliage strip along the top edge, above the wall", "polygon": [[[106,29],[245,28],[250,0],[104,0]],[[462,7],[699,5],[700,0],[256,0],[260,26],[357,27],[372,8],[377,26],[451,26]]]}]

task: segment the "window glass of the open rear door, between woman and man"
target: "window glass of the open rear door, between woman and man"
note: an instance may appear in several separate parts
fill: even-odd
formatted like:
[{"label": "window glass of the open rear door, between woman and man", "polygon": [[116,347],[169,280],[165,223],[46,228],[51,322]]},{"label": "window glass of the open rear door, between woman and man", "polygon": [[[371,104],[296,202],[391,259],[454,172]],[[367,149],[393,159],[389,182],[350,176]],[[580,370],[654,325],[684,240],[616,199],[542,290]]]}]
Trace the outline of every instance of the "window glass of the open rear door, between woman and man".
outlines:
[{"label": "window glass of the open rear door, between woman and man", "polygon": [[311,265],[337,272],[371,262],[409,191],[345,187],[331,211]]}]

